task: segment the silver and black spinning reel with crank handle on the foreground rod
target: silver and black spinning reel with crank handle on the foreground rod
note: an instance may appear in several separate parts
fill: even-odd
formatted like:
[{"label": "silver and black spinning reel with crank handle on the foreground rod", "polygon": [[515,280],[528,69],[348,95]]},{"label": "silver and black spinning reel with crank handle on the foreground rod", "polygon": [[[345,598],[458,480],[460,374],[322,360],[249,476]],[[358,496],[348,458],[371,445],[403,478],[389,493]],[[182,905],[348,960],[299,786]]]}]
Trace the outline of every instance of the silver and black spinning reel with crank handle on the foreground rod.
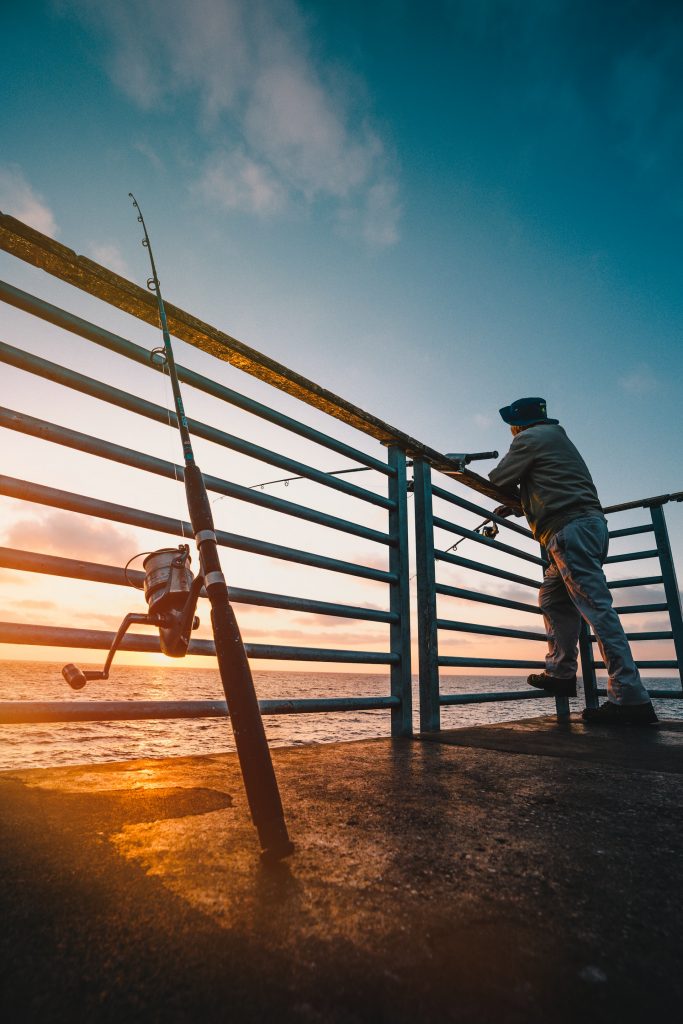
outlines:
[{"label": "silver and black spinning reel with crank handle on the foreground rod", "polygon": [[72,689],[82,690],[91,679],[109,679],[114,655],[129,627],[134,624],[156,626],[159,629],[162,652],[169,657],[184,657],[189,646],[189,635],[200,625],[195,611],[204,586],[204,577],[194,577],[189,562],[189,546],[186,544],[177,548],[160,548],[147,555],[142,568],[148,612],[128,612],[119,627],[100,672],[83,672],[77,665],[66,665],[61,675]]}]

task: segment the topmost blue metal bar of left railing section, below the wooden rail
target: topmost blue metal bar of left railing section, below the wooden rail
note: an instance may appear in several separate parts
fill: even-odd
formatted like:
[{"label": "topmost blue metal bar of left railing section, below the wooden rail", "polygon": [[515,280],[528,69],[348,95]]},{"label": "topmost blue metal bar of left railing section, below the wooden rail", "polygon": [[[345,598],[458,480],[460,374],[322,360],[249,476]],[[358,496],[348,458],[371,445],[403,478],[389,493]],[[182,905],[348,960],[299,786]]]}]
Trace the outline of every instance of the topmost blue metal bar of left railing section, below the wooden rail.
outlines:
[{"label": "topmost blue metal bar of left railing section, below the wooden rail", "polygon": [[[140,366],[153,368],[159,373],[164,373],[163,367],[158,366],[156,362],[151,362],[148,349],[142,348],[141,345],[136,345],[117,334],[113,334],[111,331],[105,331],[95,324],[90,324],[88,321],[74,315],[74,313],[68,313],[63,309],[59,309],[57,306],[53,306],[51,303],[45,302],[35,295],[30,295],[19,288],[14,288],[4,281],[0,281],[0,300],[15,306],[17,309],[23,309],[25,312],[39,316],[48,324],[53,324],[65,331],[79,335],[81,338],[85,338],[86,341],[92,341],[96,345],[101,345],[111,352],[124,355],[134,362],[138,362]],[[386,476],[395,475],[395,471],[387,463],[381,462],[379,459],[375,459],[373,456],[344,443],[344,441],[337,440],[336,437],[332,437],[330,434],[315,430],[313,427],[309,427],[305,423],[300,423],[299,420],[286,416],[284,413],[278,413],[274,409],[270,409],[269,406],[264,406],[260,401],[248,398],[246,395],[240,394],[239,391],[224,387],[209,377],[203,377],[202,374],[195,373],[194,370],[187,370],[185,367],[176,364],[176,371],[180,381],[184,384],[189,384],[190,387],[195,387],[199,391],[204,391],[206,394],[220,398],[230,406],[242,409],[247,413],[252,413],[262,420],[267,420],[269,423],[298,434],[300,437],[314,441],[316,444],[330,449],[330,451],[336,452],[347,459],[359,462],[371,469],[376,469],[378,473],[384,473]]]}]

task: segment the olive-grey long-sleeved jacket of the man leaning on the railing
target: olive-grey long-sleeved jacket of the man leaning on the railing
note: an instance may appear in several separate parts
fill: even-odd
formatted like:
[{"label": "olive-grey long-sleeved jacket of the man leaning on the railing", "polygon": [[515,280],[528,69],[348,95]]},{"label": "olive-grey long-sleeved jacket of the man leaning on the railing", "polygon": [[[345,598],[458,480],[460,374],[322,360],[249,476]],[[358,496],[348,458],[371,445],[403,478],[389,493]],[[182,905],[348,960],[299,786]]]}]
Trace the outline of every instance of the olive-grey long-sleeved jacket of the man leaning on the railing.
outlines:
[{"label": "olive-grey long-sleeved jacket of the man leaning on the railing", "polygon": [[533,537],[544,545],[572,519],[602,515],[588,467],[559,425],[537,423],[522,430],[488,479],[517,496]]}]

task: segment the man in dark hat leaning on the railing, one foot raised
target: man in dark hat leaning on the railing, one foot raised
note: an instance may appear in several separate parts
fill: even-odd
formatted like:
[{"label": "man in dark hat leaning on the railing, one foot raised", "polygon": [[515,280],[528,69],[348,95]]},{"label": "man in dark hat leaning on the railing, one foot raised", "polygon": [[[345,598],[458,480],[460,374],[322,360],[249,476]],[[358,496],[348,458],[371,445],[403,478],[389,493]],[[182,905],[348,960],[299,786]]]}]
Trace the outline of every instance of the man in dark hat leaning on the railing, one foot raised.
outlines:
[{"label": "man in dark hat leaning on the railing, one foot raised", "polygon": [[550,563],[539,594],[548,634],[546,671],[527,681],[556,696],[577,695],[583,616],[593,629],[609,674],[608,699],[600,708],[587,708],[584,720],[651,725],[657,717],[602,571],[607,522],[588,467],[559,422],[548,419],[544,398],[519,398],[500,413],[514,439],[488,474],[492,483],[511,494],[509,505],[497,512],[523,511]]}]

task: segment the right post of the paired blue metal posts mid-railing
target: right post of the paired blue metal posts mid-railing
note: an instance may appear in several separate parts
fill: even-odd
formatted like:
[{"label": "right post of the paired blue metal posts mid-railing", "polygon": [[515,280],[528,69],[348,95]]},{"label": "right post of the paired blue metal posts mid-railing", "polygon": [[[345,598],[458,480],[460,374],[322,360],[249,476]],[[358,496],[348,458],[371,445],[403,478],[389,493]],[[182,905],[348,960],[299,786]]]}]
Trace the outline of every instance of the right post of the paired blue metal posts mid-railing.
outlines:
[{"label": "right post of the paired blue metal posts mid-railing", "polygon": [[415,560],[418,570],[418,649],[420,654],[420,730],[441,727],[436,632],[436,573],[434,569],[434,515],[429,463],[416,459]]}]

